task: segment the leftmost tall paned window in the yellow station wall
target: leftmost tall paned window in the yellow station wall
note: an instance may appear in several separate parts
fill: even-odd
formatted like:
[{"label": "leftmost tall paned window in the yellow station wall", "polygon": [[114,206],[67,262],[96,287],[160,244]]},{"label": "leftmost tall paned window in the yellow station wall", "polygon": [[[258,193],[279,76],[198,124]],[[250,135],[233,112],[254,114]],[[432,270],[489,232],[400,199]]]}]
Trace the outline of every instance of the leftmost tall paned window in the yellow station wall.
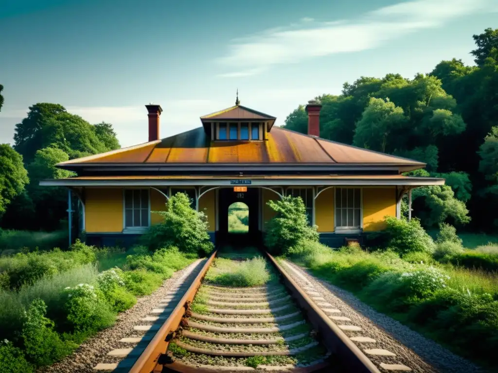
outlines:
[{"label": "leftmost tall paned window in the yellow station wall", "polygon": [[124,190],[124,227],[148,227],[149,216],[148,189]]}]

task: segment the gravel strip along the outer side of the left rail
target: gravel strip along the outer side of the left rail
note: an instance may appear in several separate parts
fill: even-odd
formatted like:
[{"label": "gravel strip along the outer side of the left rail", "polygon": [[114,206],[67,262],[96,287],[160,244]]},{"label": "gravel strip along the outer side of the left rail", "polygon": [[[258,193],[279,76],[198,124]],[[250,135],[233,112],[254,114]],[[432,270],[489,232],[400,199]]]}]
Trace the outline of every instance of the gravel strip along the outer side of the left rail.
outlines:
[{"label": "gravel strip along the outer side of the left rail", "polygon": [[[130,309],[120,313],[116,324],[105,329],[82,343],[80,347],[64,360],[50,367],[38,369],[37,373],[95,373],[93,369],[99,363],[115,363],[122,358],[108,356],[110,351],[131,347],[120,342],[122,338],[140,337],[143,334],[133,330],[135,325],[143,325],[142,319],[150,316],[152,309],[156,308],[164,299],[168,291],[180,285],[179,279],[182,275],[190,272],[195,273],[202,268],[204,260],[197,260],[183,270],[177,271],[173,276],[165,280],[152,294],[138,298],[137,303]],[[189,275],[186,281],[192,281]],[[173,306],[174,307],[174,306]]]}]

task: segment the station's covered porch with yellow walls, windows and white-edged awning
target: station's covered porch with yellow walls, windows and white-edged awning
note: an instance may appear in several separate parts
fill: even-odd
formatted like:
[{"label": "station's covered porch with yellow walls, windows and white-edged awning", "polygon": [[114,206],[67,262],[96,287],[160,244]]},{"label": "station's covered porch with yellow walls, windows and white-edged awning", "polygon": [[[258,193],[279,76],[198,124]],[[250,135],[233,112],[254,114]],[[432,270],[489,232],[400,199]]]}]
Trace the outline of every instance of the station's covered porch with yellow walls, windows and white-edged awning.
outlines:
[{"label": "station's covered porch with yellow walls, windows and white-edged awning", "polygon": [[[260,238],[265,222],[274,216],[267,205],[284,195],[300,196],[309,223],[317,225],[321,241],[337,247],[346,238],[384,228],[384,217],[401,215],[401,199],[415,187],[444,184],[443,179],[402,175],[271,175],[271,176],[82,176],[47,180],[46,186],[67,187],[69,206],[77,198],[78,230],[99,246],[129,246],[148,227],[160,221],[154,211],[166,209],[168,199],[182,191],[191,206],[207,216],[209,234],[219,243],[228,235],[228,208],[237,201],[249,207],[249,237]],[[70,221],[73,211],[68,208]],[[411,216],[410,216],[411,217]],[[70,240],[73,240],[72,233]]]}]

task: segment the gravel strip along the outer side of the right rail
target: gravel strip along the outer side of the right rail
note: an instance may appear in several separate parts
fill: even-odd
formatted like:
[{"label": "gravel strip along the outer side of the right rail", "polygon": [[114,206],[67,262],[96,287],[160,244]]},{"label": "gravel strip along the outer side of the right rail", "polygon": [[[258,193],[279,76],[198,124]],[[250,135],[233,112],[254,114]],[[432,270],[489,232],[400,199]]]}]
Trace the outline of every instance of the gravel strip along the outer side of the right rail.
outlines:
[{"label": "gravel strip along the outer side of the right rail", "polygon": [[[362,351],[383,349],[395,354],[392,356],[369,355],[369,358],[382,372],[380,364],[403,364],[412,372],[430,373],[477,373],[483,372],[468,360],[453,354],[436,342],[423,337],[400,322],[375,311],[352,293],[311,275],[307,269],[289,261],[281,261],[282,268],[301,286],[313,288],[319,297],[330,305],[327,308],[340,310],[331,316],[346,317],[350,320],[334,320],[338,325],[359,326],[361,331],[343,330],[348,337],[369,337],[375,343],[356,343]],[[289,266],[291,269],[289,269]],[[347,328],[346,328],[347,329]]]}]

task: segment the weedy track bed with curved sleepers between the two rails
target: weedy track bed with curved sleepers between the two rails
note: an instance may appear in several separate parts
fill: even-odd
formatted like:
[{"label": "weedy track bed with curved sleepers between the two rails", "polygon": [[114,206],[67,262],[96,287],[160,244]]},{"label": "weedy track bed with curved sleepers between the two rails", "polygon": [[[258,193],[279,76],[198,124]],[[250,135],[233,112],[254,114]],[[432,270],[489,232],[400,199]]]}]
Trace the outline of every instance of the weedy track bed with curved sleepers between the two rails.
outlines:
[{"label": "weedy track bed with curved sleepers between the two rails", "polygon": [[[246,256],[241,260],[240,256]],[[229,259],[231,258],[231,259]],[[215,260],[169,351],[189,366],[310,366],[327,351],[254,250]]]}]

